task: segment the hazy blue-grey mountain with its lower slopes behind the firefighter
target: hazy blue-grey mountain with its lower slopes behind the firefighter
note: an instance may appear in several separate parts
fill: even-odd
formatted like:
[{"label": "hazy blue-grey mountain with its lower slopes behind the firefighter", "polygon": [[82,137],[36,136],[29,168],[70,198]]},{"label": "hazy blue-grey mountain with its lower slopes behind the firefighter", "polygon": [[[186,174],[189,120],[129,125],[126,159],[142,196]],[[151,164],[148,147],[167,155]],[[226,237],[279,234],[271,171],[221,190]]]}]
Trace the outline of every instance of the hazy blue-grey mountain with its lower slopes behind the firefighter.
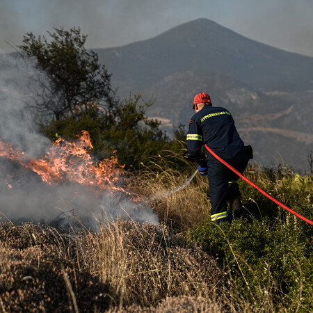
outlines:
[{"label": "hazy blue-grey mountain with its lower slopes behind the firefighter", "polygon": [[[275,31],[275,30],[273,30]],[[121,97],[156,98],[148,115],[188,125],[196,93],[225,106],[255,161],[307,170],[313,150],[313,58],[245,38],[196,19],[122,47],[95,49]]]}]

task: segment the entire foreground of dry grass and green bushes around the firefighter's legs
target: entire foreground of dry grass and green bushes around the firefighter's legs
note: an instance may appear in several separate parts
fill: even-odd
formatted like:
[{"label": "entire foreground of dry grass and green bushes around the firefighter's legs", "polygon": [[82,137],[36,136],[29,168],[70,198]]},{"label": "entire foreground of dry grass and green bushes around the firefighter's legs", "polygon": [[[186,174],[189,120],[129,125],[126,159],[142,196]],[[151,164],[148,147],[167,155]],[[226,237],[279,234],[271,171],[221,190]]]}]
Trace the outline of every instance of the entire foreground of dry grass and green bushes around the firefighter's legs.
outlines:
[{"label": "entire foreground of dry grass and green bushes around the firefighter's legs", "polygon": [[[147,195],[149,187],[151,196],[175,190],[174,172],[141,171],[134,188]],[[312,175],[252,167],[247,175],[312,220]],[[1,310],[310,312],[312,226],[245,184],[250,214],[220,226],[209,220],[207,182],[199,175],[184,190],[152,200],[158,225],[115,220],[100,223],[97,233],[64,234],[3,223]]]}]

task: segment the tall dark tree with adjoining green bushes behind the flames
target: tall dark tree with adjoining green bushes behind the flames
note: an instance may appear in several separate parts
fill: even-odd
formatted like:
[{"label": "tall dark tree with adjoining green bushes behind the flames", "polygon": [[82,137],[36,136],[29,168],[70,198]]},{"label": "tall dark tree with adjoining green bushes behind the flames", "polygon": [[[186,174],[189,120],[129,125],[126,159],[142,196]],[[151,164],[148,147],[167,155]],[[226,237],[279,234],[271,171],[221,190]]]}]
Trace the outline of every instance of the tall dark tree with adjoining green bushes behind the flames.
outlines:
[{"label": "tall dark tree with adjoining green bushes behind the flames", "polygon": [[85,49],[87,36],[81,35],[80,29],[54,30],[48,32],[50,41],[26,33],[24,45],[19,46],[47,77],[38,77],[44,92],[34,96],[35,109],[51,116],[40,125],[43,134],[52,141],[56,134],[74,140],[86,130],[95,157],[110,157],[117,150],[120,163],[131,170],[147,165],[152,156],[163,157],[171,147],[179,149],[177,141],[161,130],[161,122],[147,118],[145,112],[154,104],[152,100],[145,102],[140,94],[118,99],[111,88],[111,74],[99,64],[94,51]]}]

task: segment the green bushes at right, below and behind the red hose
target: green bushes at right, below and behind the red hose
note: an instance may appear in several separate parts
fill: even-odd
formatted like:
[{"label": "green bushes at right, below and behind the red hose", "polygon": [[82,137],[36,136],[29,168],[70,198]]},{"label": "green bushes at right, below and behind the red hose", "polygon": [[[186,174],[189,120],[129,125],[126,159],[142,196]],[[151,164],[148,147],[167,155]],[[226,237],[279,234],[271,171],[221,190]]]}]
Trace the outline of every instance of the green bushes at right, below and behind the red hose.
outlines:
[{"label": "green bushes at right, below and behind the red hose", "polygon": [[[312,220],[312,177],[280,170],[259,172],[257,185]],[[221,225],[208,217],[189,230],[188,239],[217,257],[236,292],[250,303],[270,301],[275,310],[308,311],[313,304],[313,227],[278,209],[246,182],[240,184],[251,215]]]}]

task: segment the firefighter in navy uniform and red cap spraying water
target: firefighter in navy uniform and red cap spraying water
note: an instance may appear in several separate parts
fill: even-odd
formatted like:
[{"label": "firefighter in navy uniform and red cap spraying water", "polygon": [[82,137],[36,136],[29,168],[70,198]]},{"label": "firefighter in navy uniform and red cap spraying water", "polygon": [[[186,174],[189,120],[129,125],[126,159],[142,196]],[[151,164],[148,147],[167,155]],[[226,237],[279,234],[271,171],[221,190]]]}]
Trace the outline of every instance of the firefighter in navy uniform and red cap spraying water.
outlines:
[{"label": "firefighter in navy uniform and red cap spraying water", "polygon": [[[230,112],[220,106],[212,106],[207,93],[195,95],[193,110],[195,114],[188,126],[186,159],[198,163],[200,175],[208,175],[211,220],[221,223],[243,216],[239,177],[209,152],[205,158],[202,147],[207,144],[241,173],[246,169],[248,160],[252,159],[252,148],[244,145]],[[230,215],[227,202],[230,202]]]}]

